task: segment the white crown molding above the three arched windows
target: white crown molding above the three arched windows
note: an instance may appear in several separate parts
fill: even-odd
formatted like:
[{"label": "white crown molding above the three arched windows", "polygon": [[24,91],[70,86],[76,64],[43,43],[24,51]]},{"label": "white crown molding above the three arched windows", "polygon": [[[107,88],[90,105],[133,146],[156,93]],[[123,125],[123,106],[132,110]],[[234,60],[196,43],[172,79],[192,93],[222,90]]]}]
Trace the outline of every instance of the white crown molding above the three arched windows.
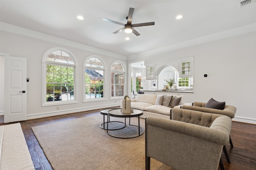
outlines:
[{"label": "white crown molding above the three arched windows", "polygon": [[66,46],[69,46],[69,47],[74,47],[76,49],[82,49],[82,50],[90,51],[90,52],[93,52],[93,53],[108,55],[110,57],[115,57],[115,58],[118,58],[118,59],[126,59],[127,60],[127,56],[125,56],[125,55],[120,55],[120,54],[117,54],[117,53],[113,53],[113,52],[110,52],[110,51],[98,49],[98,48],[91,47],[91,46],[88,46],[88,45],[84,45],[84,44],[81,44],[81,43],[76,43],[74,41],[69,41],[69,40],[66,40],[66,39],[54,37],[52,35],[47,35],[47,34],[44,34],[44,33],[37,32],[37,31],[32,31],[30,29],[18,27],[18,26],[15,26],[15,25],[4,23],[4,22],[0,22],[0,30],[10,32],[10,33],[15,33],[15,34],[18,34],[18,35],[23,35],[23,36],[26,36],[26,37],[40,39],[40,40],[43,40],[43,41],[48,41],[48,42],[51,42],[51,43],[66,45]]}]

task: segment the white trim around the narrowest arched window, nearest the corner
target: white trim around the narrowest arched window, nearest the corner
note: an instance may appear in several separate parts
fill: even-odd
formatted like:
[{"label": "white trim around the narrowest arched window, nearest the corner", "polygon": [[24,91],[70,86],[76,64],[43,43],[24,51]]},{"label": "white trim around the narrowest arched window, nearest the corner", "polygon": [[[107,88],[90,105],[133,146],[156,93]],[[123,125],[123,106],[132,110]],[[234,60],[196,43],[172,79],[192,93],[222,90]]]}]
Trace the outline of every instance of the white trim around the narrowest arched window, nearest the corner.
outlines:
[{"label": "white trim around the narrowest arched window, nearest the corner", "polygon": [[[123,68],[124,68],[124,71],[112,70],[111,68],[112,68],[113,64],[115,64],[115,63],[120,63],[120,64],[122,64],[122,66],[123,66]],[[127,93],[126,93],[126,80],[127,80],[126,66],[124,65],[124,63],[123,63],[122,61],[116,60],[116,61],[114,61],[114,62],[110,65],[110,79],[111,79],[112,71],[124,73],[124,96],[126,96],[126,95],[127,95]],[[127,82],[128,82],[128,81],[127,81]],[[123,99],[123,98],[124,98],[124,96],[114,96],[114,97],[112,97],[112,95],[111,95],[111,94],[112,94],[111,80],[110,80],[110,87],[109,87],[109,89],[110,89],[110,93],[109,93],[110,100],[118,100],[118,99]]]}]

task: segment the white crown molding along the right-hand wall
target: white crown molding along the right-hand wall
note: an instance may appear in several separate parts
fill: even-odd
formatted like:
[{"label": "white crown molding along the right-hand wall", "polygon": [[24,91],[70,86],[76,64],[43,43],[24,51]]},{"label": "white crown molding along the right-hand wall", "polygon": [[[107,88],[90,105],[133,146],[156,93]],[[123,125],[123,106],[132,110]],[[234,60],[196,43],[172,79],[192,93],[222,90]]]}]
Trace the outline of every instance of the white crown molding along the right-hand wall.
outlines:
[{"label": "white crown molding along the right-hand wall", "polygon": [[188,40],[188,41],[184,41],[184,42],[181,42],[181,43],[161,47],[161,48],[158,48],[158,49],[146,51],[144,53],[138,53],[138,54],[135,54],[135,55],[130,55],[130,56],[128,56],[128,60],[138,59],[140,57],[146,57],[146,56],[155,55],[155,54],[159,54],[159,53],[164,53],[164,52],[167,52],[167,51],[181,49],[181,48],[184,48],[184,47],[190,47],[190,46],[193,46],[193,45],[198,45],[198,44],[207,43],[207,42],[210,42],[210,41],[215,41],[215,40],[218,40],[218,39],[233,37],[233,36],[236,36],[236,35],[250,33],[250,32],[253,32],[253,31],[256,31],[256,23],[252,23],[252,24],[245,25],[245,26],[242,26],[242,27],[237,27],[237,28],[234,28],[234,29],[222,31],[222,32],[219,32],[219,33],[214,33],[214,34],[211,34],[211,35],[206,35],[206,36],[203,36],[203,37],[191,39],[191,40]]}]

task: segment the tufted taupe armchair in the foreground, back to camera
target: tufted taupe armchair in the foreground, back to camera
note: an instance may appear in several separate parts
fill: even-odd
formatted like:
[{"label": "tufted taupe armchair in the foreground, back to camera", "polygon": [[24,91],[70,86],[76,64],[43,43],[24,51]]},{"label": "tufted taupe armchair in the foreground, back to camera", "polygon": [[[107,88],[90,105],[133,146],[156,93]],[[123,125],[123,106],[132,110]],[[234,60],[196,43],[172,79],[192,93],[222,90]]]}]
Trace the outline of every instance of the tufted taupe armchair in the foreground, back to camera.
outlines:
[{"label": "tufted taupe armchair in the foreground, back to camera", "polygon": [[180,108],[172,120],[149,116],[145,125],[145,164],[154,158],[177,170],[217,170],[231,128],[228,116]]}]

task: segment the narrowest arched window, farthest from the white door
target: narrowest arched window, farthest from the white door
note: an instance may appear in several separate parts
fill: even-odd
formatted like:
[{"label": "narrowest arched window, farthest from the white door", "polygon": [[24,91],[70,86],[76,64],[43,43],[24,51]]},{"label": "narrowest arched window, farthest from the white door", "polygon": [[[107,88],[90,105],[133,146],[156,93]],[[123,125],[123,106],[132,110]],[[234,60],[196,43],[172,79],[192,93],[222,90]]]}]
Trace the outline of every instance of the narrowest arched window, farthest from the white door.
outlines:
[{"label": "narrowest arched window, farthest from the white door", "polygon": [[124,66],[120,62],[115,62],[111,67],[111,98],[124,96]]}]

